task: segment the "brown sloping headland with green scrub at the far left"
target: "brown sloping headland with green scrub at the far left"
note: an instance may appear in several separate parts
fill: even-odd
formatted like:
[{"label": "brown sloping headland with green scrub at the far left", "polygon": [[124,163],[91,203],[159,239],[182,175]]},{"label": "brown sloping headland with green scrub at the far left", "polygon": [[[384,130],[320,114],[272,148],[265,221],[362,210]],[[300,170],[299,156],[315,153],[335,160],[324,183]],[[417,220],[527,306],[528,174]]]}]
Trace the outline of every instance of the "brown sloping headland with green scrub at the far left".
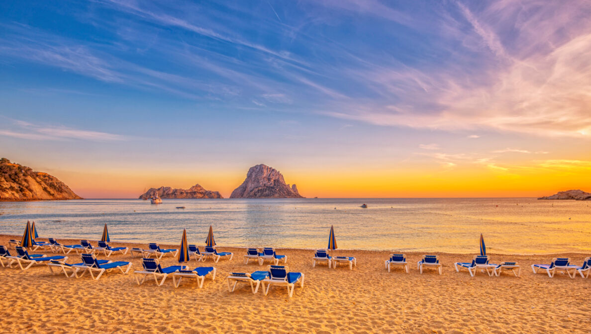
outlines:
[{"label": "brown sloping headland with green scrub at the far left", "polygon": [[81,198],[55,176],[0,159],[0,201]]}]

